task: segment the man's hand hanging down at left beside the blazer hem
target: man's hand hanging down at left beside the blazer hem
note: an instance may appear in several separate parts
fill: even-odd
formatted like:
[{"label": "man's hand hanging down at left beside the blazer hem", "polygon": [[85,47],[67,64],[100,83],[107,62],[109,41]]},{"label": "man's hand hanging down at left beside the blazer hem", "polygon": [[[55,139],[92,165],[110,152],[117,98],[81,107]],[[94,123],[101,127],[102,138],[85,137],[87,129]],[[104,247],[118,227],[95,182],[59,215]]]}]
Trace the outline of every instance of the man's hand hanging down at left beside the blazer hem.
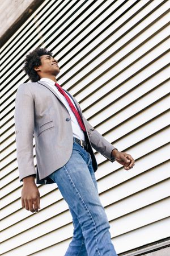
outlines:
[{"label": "man's hand hanging down at left beside the blazer hem", "polygon": [[23,179],[22,207],[31,212],[39,212],[40,192],[33,176],[28,176]]}]

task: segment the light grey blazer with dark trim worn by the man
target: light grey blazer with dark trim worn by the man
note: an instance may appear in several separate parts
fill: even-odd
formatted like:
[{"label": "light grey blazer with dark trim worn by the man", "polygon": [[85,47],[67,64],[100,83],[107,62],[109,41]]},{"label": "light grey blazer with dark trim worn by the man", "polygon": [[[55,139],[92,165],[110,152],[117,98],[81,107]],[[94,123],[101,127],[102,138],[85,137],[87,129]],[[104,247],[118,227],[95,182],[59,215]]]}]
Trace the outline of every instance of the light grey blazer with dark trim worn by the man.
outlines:
[{"label": "light grey blazer with dark trim worn by the man", "polygon": [[[69,95],[73,98],[87,130],[84,134],[94,171],[97,170],[97,162],[92,147],[114,162],[111,152],[115,147],[90,125],[78,101],[70,93]],[[16,92],[14,120],[20,182],[24,177],[35,175],[37,184],[54,183],[47,176],[64,166],[73,150],[71,118],[65,105],[44,81],[20,84]],[[33,162],[33,137],[36,170]]]}]

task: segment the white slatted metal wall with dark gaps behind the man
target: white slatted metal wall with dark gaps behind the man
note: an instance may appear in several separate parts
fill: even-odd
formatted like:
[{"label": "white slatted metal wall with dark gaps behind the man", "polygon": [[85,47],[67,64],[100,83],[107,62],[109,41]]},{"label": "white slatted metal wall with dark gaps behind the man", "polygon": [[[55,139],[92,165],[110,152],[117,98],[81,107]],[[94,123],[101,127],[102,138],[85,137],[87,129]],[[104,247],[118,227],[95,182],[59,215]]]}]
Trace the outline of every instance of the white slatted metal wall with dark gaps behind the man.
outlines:
[{"label": "white slatted metal wall with dark gaps behind the man", "polygon": [[[1,255],[63,256],[73,236],[56,184],[39,185],[40,212],[22,208],[14,108],[27,52],[47,47],[63,88],[120,151],[130,171],[95,152],[100,200],[118,254],[170,236],[168,9],[165,0],[46,0],[1,49]],[[36,165],[36,158],[35,158]]]}]

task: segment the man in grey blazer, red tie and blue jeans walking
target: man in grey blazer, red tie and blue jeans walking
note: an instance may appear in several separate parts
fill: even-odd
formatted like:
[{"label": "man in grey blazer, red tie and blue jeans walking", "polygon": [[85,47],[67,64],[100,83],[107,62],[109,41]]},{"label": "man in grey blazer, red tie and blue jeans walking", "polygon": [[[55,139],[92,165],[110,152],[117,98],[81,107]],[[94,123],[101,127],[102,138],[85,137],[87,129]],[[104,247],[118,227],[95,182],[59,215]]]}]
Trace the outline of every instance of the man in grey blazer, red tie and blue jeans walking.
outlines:
[{"label": "man in grey blazer, red tie and blue jeans walking", "polygon": [[76,99],[57,83],[60,70],[51,52],[36,48],[26,56],[24,71],[32,82],[19,85],[14,114],[19,179],[23,181],[22,207],[39,212],[35,176],[37,184],[56,183],[73,216],[73,240],[65,256],[117,255],[99,199],[92,147],[111,162],[122,164],[125,170],[133,168],[134,159],[119,152],[95,130]]}]

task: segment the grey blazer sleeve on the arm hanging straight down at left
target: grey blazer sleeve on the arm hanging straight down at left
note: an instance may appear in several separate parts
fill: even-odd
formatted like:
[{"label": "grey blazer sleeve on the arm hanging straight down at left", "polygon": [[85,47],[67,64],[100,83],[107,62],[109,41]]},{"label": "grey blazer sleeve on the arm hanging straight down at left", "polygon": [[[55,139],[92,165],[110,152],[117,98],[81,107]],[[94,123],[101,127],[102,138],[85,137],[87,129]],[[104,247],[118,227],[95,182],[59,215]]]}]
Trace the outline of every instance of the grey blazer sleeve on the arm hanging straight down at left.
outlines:
[{"label": "grey blazer sleeve on the arm hanging straight down at left", "polygon": [[15,141],[19,180],[29,175],[36,176],[33,163],[34,100],[29,86],[20,84],[15,98]]}]

